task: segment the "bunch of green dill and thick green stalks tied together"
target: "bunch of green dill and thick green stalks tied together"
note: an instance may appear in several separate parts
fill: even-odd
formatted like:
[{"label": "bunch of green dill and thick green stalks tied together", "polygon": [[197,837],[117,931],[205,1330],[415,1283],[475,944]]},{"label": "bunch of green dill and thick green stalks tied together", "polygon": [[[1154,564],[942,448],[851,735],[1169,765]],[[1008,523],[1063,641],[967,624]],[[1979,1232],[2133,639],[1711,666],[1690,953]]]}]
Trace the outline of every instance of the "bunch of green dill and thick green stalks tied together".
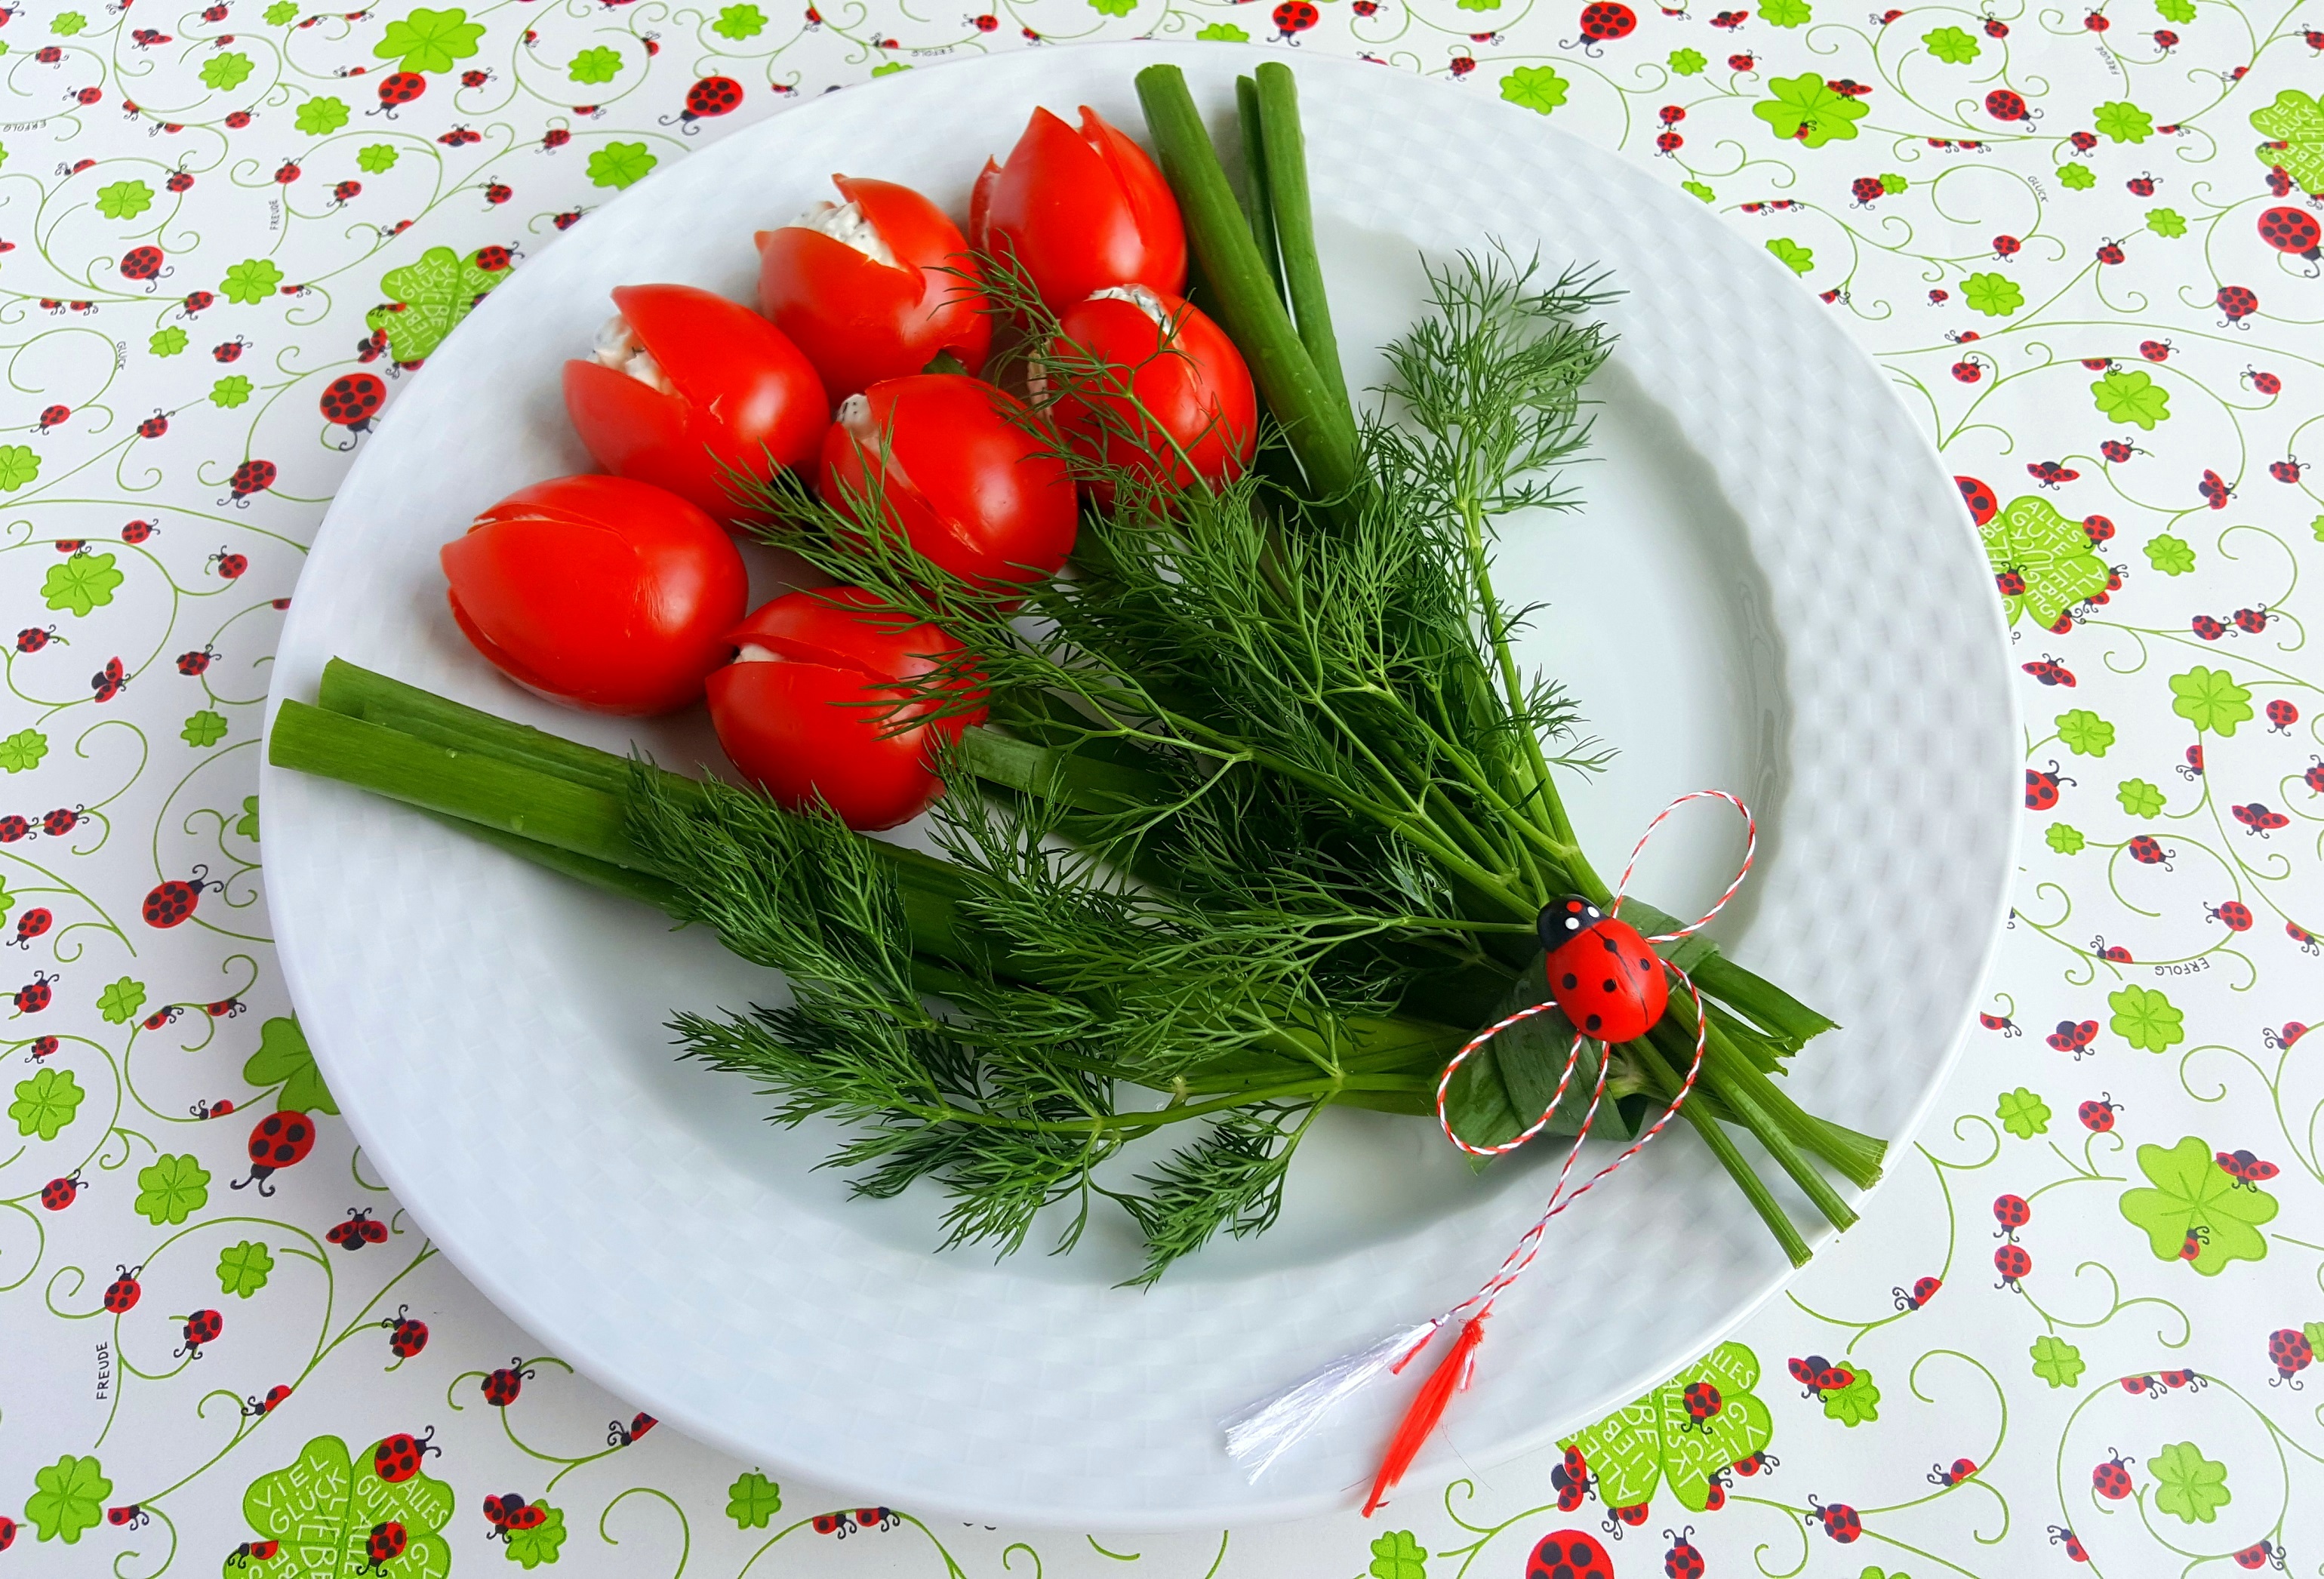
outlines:
[{"label": "bunch of green dill and thick green stalks tied together", "polygon": [[[876,498],[839,514],[783,479],[758,498],[769,542],[962,644],[916,693],[988,709],[944,760],[941,853],[349,663],[318,705],[284,705],[270,751],[781,970],[788,1002],[679,1012],[686,1056],[753,1079],[783,1123],[841,1126],[830,1160],[860,1193],[932,1181],[951,1242],[1013,1251],[1048,1212],[1069,1249],[1111,1202],[1146,1244],[1132,1281],[1150,1284],[1220,1230],[1271,1226],[1325,1109],[1434,1121],[1450,1056],[1541,995],[1541,907],[1611,900],[1557,786],[1601,751],[1564,691],[1520,670],[1525,612],[1492,584],[1501,523],[1571,505],[1552,472],[1587,442],[1583,388],[1611,337],[1590,319],[1601,279],[1459,256],[1387,346],[1385,400],[1357,407],[1290,70],[1262,65],[1239,93],[1248,207],[1176,67],[1141,72],[1139,100],[1202,298],[1264,398],[1253,470],[1171,488],[1067,456],[1111,502],[1085,512],[1067,574],[1009,595],[867,526]],[[1006,260],[983,263],[1034,391],[1120,379],[1057,344]],[[1039,398],[1030,421],[1046,423]],[[1676,928],[1638,900],[1624,919]],[[1831,1021],[1701,937],[1666,956],[1710,1000],[1683,1114],[1806,1260],[1736,1130],[1824,1221],[1855,1221],[1829,1174],[1868,1186],[1882,1142],[1771,1079]],[[1452,1079],[1466,1142],[1545,1109],[1571,1030],[1536,1026]],[[1599,1056],[1552,1130],[1573,1133]],[[1604,1056],[1597,1128],[1636,1135],[1676,1095],[1694,1028],[1664,1019]]]}]

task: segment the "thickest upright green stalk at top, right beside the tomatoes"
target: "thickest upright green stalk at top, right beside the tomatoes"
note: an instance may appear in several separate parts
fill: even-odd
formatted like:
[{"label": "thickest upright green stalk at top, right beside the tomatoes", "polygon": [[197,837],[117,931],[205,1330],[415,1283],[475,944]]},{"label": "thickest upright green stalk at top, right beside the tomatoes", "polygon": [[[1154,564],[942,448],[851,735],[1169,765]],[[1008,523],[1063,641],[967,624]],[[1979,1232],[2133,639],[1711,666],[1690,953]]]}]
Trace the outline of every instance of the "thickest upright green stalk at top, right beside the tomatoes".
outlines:
[{"label": "thickest upright green stalk at top, right beside the tomatoes", "polygon": [[1325,500],[1348,498],[1360,481],[1355,426],[1315,372],[1276,295],[1260,247],[1250,240],[1250,223],[1234,200],[1218,149],[1211,147],[1211,133],[1188,93],[1185,72],[1176,65],[1148,65],[1139,72],[1139,105],[1146,109],[1162,174],[1178,195],[1195,260],[1218,293],[1227,335],[1250,363],[1250,377],[1283,423],[1308,486]]}]

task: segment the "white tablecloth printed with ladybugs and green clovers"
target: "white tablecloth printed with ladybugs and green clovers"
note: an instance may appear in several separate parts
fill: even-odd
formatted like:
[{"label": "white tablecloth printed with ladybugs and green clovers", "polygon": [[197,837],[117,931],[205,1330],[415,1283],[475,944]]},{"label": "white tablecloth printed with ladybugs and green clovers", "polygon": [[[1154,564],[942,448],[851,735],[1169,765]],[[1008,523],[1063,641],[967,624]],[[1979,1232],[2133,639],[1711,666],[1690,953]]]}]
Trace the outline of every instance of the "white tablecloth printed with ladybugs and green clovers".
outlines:
[{"label": "white tablecloth printed with ladybugs and green clovers", "polygon": [[[1513,1579],[1559,1528],[1622,1574],[2324,1572],[2324,33],[2296,7],[72,2],[0,12],[0,1567],[356,1574],[395,1523],[397,1579]],[[1141,35],[1360,51],[1624,149],[1822,293],[1989,516],[2029,828],[1985,1028],[1868,1221],[1583,1432],[1587,1491],[1545,1453],[1206,1537],[834,1512],[646,1435],[435,1256],[274,970],[260,702],[363,442],[332,381],[388,374],[395,421],[397,365],[476,293],[732,126]],[[704,77],[741,107],[688,116]],[[277,1109],[314,1149],[253,1181]],[[1690,1428],[1692,1381],[1764,1407]],[[409,1474],[383,1439],[428,1428]]]}]

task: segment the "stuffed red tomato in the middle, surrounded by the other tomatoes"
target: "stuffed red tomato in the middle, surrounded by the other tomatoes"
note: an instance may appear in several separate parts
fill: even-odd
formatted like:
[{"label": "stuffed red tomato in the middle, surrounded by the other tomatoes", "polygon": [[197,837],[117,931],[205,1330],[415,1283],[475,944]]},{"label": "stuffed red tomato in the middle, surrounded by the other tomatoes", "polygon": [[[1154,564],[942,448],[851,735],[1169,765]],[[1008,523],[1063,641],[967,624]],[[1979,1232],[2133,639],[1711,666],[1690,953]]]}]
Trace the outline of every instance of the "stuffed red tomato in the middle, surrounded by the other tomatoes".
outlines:
[{"label": "stuffed red tomato in the middle, surrounded by the other tomatoes", "polygon": [[964,581],[1050,577],[1074,551],[1074,479],[1025,421],[1013,395],[957,372],[874,384],[823,435],[823,500],[858,526],[883,500],[888,523]]}]

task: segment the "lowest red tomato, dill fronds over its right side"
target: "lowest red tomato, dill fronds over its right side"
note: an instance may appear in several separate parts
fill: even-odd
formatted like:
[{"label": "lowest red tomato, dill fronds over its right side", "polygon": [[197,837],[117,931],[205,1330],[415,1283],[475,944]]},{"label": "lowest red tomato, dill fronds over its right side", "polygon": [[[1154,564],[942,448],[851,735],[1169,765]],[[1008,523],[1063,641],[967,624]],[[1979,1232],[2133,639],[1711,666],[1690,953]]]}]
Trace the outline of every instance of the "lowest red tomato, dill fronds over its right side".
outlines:
[{"label": "lowest red tomato, dill fronds over its right side", "polygon": [[[937,742],[985,716],[911,723],[937,705],[906,700],[892,681],[934,672],[960,642],[934,626],[897,628],[867,612],[876,602],[860,586],[783,593],[727,633],[741,651],[709,681],[711,723],[734,765],[792,812],[823,800],[858,830],[925,812],[944,791]],[[881,700],[895,707],[867,707]]]}]

